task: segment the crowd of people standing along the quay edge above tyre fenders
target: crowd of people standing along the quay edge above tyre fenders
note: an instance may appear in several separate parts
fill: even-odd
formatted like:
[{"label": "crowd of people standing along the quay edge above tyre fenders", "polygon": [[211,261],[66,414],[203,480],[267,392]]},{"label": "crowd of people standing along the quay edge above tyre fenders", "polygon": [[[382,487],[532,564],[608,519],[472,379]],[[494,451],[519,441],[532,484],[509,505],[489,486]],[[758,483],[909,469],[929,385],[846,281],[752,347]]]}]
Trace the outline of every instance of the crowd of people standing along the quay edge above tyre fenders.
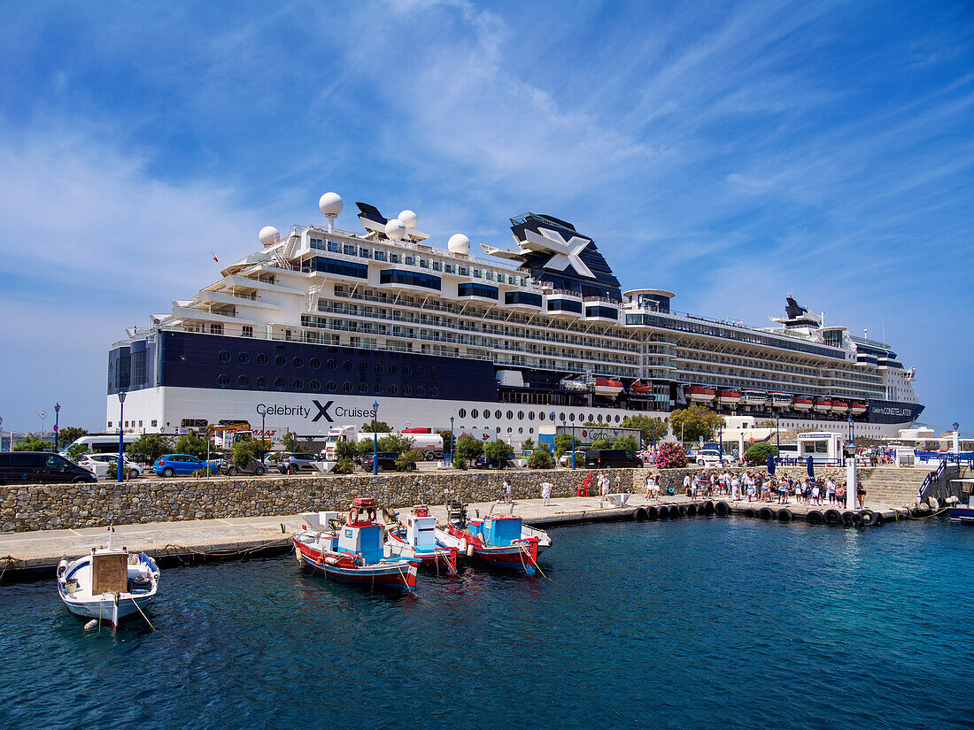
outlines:
[{"label": "crowd of people standing along the quay edge above tyre fenders", "polygon": [[[837,483],[831,477],[819,481],[814,477],[807,477],[805,481],[792,477],[774,477],[761,472],[745,471],[743,474],[731,474],[727,470],[710,473],[687,474],[683,478],[683,491],[692,499],[713,498],[715,496],[730,496],[734,501],[774,502],[789,504],[792,499],[797,504],[809,506],[846,507],[849,503],[848,485]],[[659,485],[656,477],[650,474],[646,477],[646,498],[659,498]],[[865,508],[866,488],[862,482],[856,485],[852,506],[858,503],[859,508]]]}]

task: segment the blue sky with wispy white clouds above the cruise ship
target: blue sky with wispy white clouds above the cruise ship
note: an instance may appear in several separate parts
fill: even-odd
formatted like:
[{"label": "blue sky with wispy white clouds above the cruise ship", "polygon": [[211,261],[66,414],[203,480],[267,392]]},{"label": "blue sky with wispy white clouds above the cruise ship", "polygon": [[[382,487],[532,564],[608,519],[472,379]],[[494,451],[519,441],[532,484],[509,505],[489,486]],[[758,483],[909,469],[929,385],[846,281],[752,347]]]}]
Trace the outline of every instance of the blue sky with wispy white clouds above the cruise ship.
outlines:
[{"label": "blue sky with wispy white clouds above the cruise ship", "polygon": [[[623,288],[893,345],[974,430],[969,2],[7,4],[0,416],[100,427],[106,351],[340,193],[438,245],[532,210]],[[50,422],[50,421],[49,421]],[[966,428],[965,428],[966,426]]]}]

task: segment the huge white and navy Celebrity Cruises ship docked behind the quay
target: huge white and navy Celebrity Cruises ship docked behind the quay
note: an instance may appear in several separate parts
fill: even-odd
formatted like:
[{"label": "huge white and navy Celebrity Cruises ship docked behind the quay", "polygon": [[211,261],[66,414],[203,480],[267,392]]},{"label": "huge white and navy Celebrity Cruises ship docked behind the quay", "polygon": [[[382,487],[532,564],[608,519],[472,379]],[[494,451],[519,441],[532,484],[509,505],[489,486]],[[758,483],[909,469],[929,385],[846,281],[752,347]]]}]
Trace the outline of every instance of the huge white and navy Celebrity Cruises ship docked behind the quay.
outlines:
[{"label": "huge white and navy Celebrity Cruises ship docked behind the quay", "polygon": [[[622,291],[595,241],[540,213],[509,247],[446,247],[403,210],[323,195],[321,225],[273,227],[260,248],[110,347],[106,426],[180,433],[247,421],[280,438],[377,418],[517,444],[545,425],[665,418],[699,404],[729,427],[893,435],[923,406],[915,371],[791,294],[767,327]],[[215,258],[215,257],[214,257]]]}]

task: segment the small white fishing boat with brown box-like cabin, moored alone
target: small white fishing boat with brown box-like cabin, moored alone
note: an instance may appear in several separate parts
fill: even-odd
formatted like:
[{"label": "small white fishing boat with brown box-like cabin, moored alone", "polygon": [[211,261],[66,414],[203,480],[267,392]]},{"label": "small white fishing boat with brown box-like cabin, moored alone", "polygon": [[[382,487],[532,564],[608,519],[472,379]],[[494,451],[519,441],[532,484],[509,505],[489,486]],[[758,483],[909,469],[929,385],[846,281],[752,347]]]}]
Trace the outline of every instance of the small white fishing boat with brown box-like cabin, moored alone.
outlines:
[{"label": "small white fishing boat with brown box-like cabin, moored alone", "polygon": [[76,616],[105,619],[113,627],[132,613],[141,613],[159,590],[159,567],[144,553],[130,553],[112,547],[113,529],[108,529],[107,547],[75,561],[62,558],[57,565],[57,593]]}]

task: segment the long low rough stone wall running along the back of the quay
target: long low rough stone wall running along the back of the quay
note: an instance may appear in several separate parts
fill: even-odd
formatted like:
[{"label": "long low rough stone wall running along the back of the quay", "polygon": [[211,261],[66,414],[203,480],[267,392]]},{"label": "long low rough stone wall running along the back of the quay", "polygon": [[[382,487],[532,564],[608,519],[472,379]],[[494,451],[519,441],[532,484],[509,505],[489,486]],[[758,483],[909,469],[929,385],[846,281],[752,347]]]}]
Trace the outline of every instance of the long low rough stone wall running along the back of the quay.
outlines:
[{"label": "long low rough stone wall running along the back of the quay", "polygon": [[[646,475],[658,474],[663,489],[679,490],[685,474],[709,473],[707,469],[607,469],[612,492],[643,493]],[[731,472],[739,473],[740,468]],[[752,471],[764,472],[764,469]],[[868,470],[862,470],[866,478]],[[380,504],[403,507],[419,502],[442,504],[451,499],[490,502],[503,496],[506,477],[515,499],[541,495],[541,484],[551,483],[553,496],[576,493],[585,474],[596,470],[555,469],[412,472],[409,474],[356,474],[349,476],[263,477],[260,479],[153,479],[118,484],[56,484],[0,487],[0,529],[4,532],[33,529],[94,528],[179,520],[224,517],[293,515],[324,509],[345,511],[356,496],[374,496]],[[785,467],[779,474],[796,478],[805,469]],[[841,481],[842,469],[822,469]],[[593,488],[593,493],[594,493]]]}]

